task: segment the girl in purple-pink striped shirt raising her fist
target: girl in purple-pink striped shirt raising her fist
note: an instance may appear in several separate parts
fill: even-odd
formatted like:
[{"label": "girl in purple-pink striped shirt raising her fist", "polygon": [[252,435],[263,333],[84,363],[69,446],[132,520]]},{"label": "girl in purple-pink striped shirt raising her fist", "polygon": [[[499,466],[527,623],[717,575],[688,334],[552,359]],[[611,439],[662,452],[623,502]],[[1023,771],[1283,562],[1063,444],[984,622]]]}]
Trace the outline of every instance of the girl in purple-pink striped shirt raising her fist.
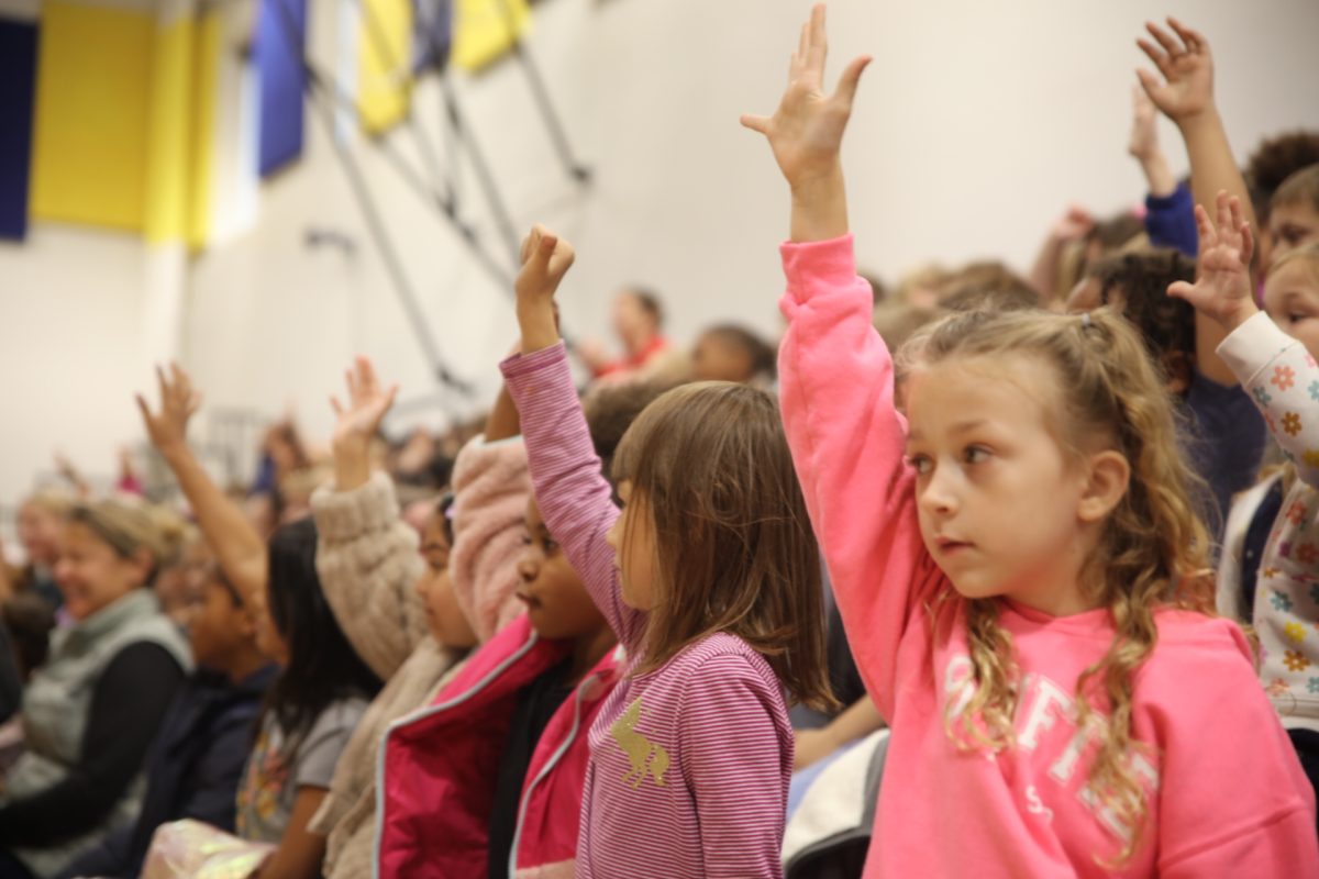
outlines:
[{"label": "girl in purple-pink striped shirt raising her fist", "polygon": [[[780,876],[787,697],[830,700],[819,560],[773,398],[671,390],[592,453],[554,323],[572,249],[537,227],[503,370],[549,530],[628,651],[591,729],[578,876]],[[867,294],[869,295],[869,294]]]}]

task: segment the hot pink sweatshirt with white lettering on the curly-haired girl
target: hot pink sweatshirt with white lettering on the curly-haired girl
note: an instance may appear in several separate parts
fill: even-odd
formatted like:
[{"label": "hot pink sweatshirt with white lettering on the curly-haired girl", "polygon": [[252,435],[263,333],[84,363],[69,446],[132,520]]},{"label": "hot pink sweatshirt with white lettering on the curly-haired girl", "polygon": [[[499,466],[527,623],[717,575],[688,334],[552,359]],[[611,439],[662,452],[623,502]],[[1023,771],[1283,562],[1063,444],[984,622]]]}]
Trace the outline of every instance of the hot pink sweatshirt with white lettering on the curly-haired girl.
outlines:
[{"label": "hot pink sweatshirt with white lettering on the curly-haired girl", "polygon": [[[1010,602],[1022,673],[1014,747],[959,750],[944,706],[969,696],[966,604],[926,552],[893,362],[871,326],[851,236],[782,246],[790,327],[783,420],[867,688],[890,722],[867,876],[1112,875],[1129,828],[1088,796],[1078,675],[1112,640],[1107,610],[1055,618]],[[1024,523],[1029,527],[1029,523]],[[931,602],[939,625],[931,625]],[[1119,875],[1319,875],[1314,796],[1227,621],[1166,610],[1140,669],[1133,754],[1148,843]]]}]

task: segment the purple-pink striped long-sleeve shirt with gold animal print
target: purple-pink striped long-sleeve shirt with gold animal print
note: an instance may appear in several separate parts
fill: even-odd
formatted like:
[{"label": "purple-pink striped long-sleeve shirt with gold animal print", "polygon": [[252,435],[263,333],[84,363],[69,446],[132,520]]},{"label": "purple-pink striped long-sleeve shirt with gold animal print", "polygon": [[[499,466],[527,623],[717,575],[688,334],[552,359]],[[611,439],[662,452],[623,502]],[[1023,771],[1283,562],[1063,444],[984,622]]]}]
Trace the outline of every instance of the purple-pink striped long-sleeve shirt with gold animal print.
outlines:
[{"label": "purple-pink striped long-sleeve shirt with gold animal print", "polygon": [[[541,515],[634,667],[646,617],[623,602],[605,542],[619,509],[563,347],[510,357],[503,370]],[[591,727],[576,875],[782,876],[791,766],[782,685],[740,638],[718,633],[627,675]]]}]

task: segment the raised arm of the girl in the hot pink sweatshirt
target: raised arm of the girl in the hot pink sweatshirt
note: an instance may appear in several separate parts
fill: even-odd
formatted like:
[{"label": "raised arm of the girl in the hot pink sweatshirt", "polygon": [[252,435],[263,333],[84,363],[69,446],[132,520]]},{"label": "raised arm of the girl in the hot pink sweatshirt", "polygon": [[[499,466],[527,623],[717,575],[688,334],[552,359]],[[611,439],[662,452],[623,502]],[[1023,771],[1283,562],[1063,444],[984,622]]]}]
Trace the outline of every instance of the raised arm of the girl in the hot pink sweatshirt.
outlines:
[{"label": "raised arm of the girl in the hot pink sweatshirt", "polygon": [[743,124],[766,136],[793,192],[780,349],[793,463],[857,667],[892,720],[898,644],[921,596],[944,580],[921,542],[893,360],[871,324],[871,287],[856,274],[847,229],[839,146],[869,59],[848,65],[826,96],[826,54],[824,7],[816,5],[778,109]]}]

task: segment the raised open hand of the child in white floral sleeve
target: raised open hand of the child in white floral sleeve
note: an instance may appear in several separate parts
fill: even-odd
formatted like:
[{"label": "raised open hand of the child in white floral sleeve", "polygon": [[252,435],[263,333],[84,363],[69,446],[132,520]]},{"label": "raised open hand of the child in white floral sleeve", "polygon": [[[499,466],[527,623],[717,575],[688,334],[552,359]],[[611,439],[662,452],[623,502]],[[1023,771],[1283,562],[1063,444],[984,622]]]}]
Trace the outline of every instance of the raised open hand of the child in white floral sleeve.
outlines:
[{"label": "raised open hand of the child in white floral sleeve", "polygon": [[1228,198],[1225,191],[1220,191],[1216,208],[1217,223],[1211,223],[1208,212],[1195,207],[1195,223],[1200,231],[1196,279],[1194,285],[1178,281],[1167,289],[1167,294],[1186,299],[1232,332],[1258,311],[1250,290],[1254,240],[1236,196]]}]

